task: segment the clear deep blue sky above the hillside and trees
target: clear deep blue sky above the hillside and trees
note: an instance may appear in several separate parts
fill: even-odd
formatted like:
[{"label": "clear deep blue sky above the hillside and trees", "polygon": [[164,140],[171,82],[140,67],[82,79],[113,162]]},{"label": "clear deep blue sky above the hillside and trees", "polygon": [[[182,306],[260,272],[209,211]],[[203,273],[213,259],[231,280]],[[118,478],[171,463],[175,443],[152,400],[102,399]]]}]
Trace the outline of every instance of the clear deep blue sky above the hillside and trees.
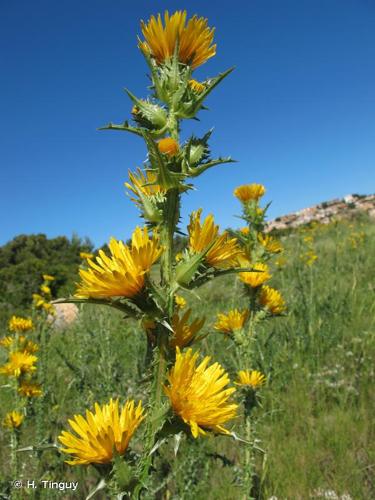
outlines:
[{"label": "clear deep blue sky above the hillside and trees", "polygon": [[188,8],[216,27],[217,55],[196,72],[236,70],[201,122],[215,155],[232,155],[183,199],[235,226],[233,189],[261,182],[271,218],[375,184],[373,0],[198,2],[18,0],[0,6],[0,244],[18,234],[127,239],[139,223],[125,196],[142,141],[99,132],[147,95],[139,20]]}]

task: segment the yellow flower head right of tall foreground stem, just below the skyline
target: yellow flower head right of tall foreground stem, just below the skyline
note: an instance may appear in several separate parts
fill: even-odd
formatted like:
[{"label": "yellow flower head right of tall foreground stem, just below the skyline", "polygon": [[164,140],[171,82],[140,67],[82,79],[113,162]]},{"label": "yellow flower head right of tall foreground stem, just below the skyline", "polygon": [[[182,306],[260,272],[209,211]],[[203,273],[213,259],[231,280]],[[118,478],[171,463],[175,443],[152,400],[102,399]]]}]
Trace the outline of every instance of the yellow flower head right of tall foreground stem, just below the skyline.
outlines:
[{"label": "yellow flower head right of tall foreground stem, just below the skyline", "polygon": [[192,253],[200,253],[212,245],[205,255],[210,266],[235,267],[238,264],[237,257],[242,254],[237,239],[230,238],[226,232],[219,235],[219,226],[215,225],[212,215],[208,215],[201,223],[201,213],[202,209],[199,209],[190,215],[189,250]]}]

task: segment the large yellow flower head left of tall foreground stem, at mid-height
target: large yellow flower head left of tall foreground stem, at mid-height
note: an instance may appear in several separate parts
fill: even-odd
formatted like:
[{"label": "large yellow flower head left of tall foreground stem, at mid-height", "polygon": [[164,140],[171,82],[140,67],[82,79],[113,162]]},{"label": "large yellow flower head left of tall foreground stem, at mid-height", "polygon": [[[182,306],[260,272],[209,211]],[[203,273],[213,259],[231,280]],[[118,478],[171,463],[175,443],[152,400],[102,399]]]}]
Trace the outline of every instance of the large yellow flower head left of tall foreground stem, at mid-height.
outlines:
[{"label": "large yellow flower head left of tall foreground stem, at mid-height", "polygon": [[89,269],[80,269],[78,297],[134,297],[143,288],[145,274],[162,252],[156,233],[149,237],[147,228],[137,227],[130,248],[122,241],[109,243],[111,256],[99,251],[96,262],[89,259]]}]

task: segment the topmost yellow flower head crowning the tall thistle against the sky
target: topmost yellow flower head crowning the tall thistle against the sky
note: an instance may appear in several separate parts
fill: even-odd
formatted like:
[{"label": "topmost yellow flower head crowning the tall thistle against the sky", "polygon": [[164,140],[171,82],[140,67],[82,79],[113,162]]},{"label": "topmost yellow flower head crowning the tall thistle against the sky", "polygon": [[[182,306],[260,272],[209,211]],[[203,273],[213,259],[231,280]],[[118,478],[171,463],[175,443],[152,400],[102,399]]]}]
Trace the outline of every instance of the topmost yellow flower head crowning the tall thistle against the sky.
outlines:
[{"label": "topmost yellow flower head crowning the tall thistle against the sky", "polygon": [[151,16],[146,24],[141,21],[145,41],[139,41],[139,48],[144,54],[151,55],[158,64],[171,59],[178,42],[178,60],[197,68],[216,54],[216,45],[212,45],[214,29],[207,26],[207,19],[193,16],[186,24],[186,11],[176,11],[169,16],[164,14],[164,26],[161,15]]}]

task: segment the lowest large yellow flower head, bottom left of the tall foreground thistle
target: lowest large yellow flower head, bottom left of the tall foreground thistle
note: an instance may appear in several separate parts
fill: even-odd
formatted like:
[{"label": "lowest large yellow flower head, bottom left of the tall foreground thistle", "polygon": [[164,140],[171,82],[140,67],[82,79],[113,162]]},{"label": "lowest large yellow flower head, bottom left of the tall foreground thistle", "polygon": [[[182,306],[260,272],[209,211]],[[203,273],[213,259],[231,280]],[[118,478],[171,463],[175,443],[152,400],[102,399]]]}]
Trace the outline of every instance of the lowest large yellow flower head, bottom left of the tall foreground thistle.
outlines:
[{"label": "lowest large yellow flower head, bottom left of the tall foreground thistle", "polygon": [[73,455],[67,460],[70,465],[106,464],[114,453],[123,455],[134,432],[144,419],[141,401],[127,401],[119,408],[119,401],[112,399],[108,404],[95,403],[95,412],[86,410],[86,418],[75,415],[69,420],[76,434],[62,431],[58,437],[65,446],[61,451]]}]

